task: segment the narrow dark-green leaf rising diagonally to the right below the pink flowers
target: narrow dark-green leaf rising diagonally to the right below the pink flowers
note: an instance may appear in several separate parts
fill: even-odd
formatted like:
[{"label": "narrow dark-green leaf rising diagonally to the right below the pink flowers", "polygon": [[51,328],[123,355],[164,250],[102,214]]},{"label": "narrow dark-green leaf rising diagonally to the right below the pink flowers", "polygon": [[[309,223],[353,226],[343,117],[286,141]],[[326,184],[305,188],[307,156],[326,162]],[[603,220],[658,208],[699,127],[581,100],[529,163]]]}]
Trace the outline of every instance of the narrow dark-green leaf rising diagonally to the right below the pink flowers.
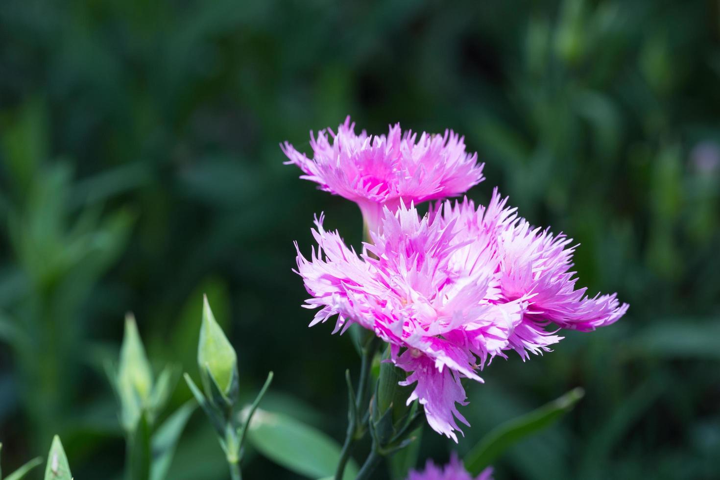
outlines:
[{"label": "narrow dark-green leaf rising diagonally to the right below the pink flowers", "polygon": [[572,389],[526,415],[495,427],[467,453],[464,458],[465,467],[473,475],[480,474],[483,468],[489,466],[512,445],[552,425],[559,417],[570,412],[584,395],[585,391],[582,389]]}]

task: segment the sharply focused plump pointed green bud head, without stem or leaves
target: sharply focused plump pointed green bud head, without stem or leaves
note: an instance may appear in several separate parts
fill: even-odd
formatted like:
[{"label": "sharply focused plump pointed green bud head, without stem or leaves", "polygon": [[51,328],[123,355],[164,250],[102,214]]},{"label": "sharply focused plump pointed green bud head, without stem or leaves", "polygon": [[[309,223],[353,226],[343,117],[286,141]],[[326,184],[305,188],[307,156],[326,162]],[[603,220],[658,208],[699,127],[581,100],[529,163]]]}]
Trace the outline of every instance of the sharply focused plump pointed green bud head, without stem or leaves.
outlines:
[{"label": "sharply focused plump pointed green bud head, without stem or leaves", "polygon": [[238,356],[220,325],[217,325],[207,296],[204,296],[202,306],[197,365],[205,393],[210,399],[215,397],[212,394],[215,386],[228,399],[235,399],[238,389]]}]

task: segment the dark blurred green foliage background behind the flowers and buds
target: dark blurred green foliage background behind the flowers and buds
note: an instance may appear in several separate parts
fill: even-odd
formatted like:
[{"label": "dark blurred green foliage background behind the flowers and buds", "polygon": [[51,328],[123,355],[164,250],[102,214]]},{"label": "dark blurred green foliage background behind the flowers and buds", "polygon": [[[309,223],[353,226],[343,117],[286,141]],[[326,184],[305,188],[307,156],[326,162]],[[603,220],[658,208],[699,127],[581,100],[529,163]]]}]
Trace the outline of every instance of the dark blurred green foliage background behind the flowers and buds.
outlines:
[{"label": "dark blurred green foliage background behind the flowers and buds", "polygon": [[[466,136],[487,180],[568,232],[618,324],[486,368],[467,451],[575,386],[499,479],[720,479],[720,6],[716,0],[3,0],[0,440],[7,471],[60,433],[76,479],[120,478],[103,363],[132,311],[153,364],[197,379],[202,293],[251,398],[342,440],[347,337],[307,328],[312,216],[359,245],[354,204],[278,144],[351,114]],[[179,384],[172,403],[190,397]],[[424,458],[454,448],[426,431]],[[366,449],[361,445],[358,459]],[[365,450],[366,451],[366,450]],[[251,450],[246,477],[294,479]],[[171,479],[225,479],[196,413]],[[384,474],[378,474],[382,478]],[[35,478],[35,477],[33,477]]]}]

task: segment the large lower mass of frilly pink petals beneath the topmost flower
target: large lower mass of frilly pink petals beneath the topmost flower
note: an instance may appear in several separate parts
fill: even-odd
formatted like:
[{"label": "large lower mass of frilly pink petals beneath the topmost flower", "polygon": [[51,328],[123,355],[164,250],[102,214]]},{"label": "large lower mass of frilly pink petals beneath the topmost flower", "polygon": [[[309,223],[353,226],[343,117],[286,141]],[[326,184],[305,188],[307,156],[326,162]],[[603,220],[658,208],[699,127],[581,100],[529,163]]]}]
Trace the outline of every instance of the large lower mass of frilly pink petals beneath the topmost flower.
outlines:
[{"label": "large lower mass of frilly pink petals beneath the topmost flower", "polygon": [[415,384],[408,403],[418,399],[428,424],[455,441],[456,420],[468,425],[462,378],[482,381],[478,369],[495,356],[549,351],[559,328],[594,330],[628,307],[575,289],[572,240],[530,227],[506,201],[496,189],[487,207],[446,201],[422,218],[401,203],[360,255],[321,216],[317,252],[298,250],[305,307],[319,308],[310,326],[337,315],[335,332],[355,322],[390,343],[390,361],[409,373],[401,384]]}]

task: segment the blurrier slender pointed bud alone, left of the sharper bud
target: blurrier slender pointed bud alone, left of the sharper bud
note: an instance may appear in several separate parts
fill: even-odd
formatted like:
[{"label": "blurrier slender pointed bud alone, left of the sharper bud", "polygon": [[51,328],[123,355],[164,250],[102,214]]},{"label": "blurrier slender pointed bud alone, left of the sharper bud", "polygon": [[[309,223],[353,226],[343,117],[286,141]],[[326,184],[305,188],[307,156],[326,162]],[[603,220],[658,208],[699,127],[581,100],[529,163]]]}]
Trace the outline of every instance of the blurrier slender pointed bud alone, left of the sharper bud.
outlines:
[{"label": "blurrier slender pointed bud alone, left of the sharper bud", "polygon": [[135,317],[125,317],[125,336],[120,348],[117,391],[122,404],[122,422],[127,430],[135,427],[140,411],[146,406],[153,389],[153,372],[140,340]]}]

